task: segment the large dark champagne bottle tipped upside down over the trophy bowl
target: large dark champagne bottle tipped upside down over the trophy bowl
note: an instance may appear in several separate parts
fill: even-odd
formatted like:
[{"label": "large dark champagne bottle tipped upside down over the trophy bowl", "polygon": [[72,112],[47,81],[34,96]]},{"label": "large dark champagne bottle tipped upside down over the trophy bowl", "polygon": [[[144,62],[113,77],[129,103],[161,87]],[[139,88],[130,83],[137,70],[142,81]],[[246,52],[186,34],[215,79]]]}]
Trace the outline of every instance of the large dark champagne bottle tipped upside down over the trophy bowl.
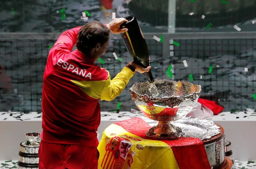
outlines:
[{"label": "large dark champagne bottle tipped upside down over the trophy bowl", "polygon": [[[149,66],[148,45],[144,39],[140,26],[134,16],[127,16],[125,22],[120,25],[121,28],[128,28],[128,31],[121,33],[125,46],[133,60],[140,66],[146,68]],[[149,83],[154,82],[151,70],[145,72]]]}]

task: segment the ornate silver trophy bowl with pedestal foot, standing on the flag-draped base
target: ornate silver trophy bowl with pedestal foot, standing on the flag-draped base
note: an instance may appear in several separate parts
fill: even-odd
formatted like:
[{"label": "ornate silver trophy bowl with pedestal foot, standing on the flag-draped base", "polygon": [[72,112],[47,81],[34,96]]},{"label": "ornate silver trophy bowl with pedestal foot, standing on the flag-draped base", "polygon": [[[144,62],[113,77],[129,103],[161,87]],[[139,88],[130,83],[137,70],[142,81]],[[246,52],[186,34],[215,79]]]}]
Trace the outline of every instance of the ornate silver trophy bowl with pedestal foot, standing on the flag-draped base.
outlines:
[{"label": "ornate silver trophy bowl with pedestal foot, standing on the flag-draped base", "polygon": [[[152,85],[157,88],[158,96],[150,92]],[[130,95],[142,113],[158,121],[157,126],[146,132],[148,137],[157,139],[175,139],[184,133],[172,123],[185,117],[196,104],[201,92],[200,85],[193,85],[185,80],[169,81],[155,79],[154,83],[136,82],[130,88]]]}]

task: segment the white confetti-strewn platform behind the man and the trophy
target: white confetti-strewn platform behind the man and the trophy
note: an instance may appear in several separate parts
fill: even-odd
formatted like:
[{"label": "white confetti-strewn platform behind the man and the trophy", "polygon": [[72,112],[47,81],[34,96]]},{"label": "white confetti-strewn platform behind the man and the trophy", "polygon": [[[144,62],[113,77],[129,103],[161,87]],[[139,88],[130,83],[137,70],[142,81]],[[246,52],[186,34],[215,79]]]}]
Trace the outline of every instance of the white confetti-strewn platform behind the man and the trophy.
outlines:
[{"label": "white confetti-strewn platform behind the man and the trophy", "polygon": [[[0,160],[5,161],[18,159],[20,143],[26,140],[25,133],[41,133],[42,131],[41,113],[32,112],[21,115],[19,112],[12,112],[12,116],[10,114],[10,112],[0,112]],[[133,117],[145,116],[141,112],[119,112],[119,114],[101,112],[101,124],[98,128],[99,139],[101,139],[104,129],[110,124]],[[232,114],[221,112],[207,120],[214,121],[224,128],[226,140],[231,142],[234,160],[256,161],[256,112],[250,110]],[[2,166],[0,165],[0,167]],[[237,168],[239,167],[237,166]],[[256,166],[251,163],[246,168],[256,169]]]}]

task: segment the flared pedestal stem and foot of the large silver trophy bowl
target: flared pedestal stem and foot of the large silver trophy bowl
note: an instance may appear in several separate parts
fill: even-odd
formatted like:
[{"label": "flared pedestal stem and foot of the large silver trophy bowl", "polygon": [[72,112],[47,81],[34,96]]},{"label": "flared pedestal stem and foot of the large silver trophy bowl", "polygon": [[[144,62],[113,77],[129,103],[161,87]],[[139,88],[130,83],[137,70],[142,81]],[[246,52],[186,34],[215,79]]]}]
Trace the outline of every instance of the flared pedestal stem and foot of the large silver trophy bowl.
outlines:
[{"label": "flared pedestal stem and foot of the large silver trophy bowl", "polygon": [[157,126],[151,127],[146,136],[157,139],[175,139],[183,136],[180,127],[173,126],[172,121],[159,121]]}]

